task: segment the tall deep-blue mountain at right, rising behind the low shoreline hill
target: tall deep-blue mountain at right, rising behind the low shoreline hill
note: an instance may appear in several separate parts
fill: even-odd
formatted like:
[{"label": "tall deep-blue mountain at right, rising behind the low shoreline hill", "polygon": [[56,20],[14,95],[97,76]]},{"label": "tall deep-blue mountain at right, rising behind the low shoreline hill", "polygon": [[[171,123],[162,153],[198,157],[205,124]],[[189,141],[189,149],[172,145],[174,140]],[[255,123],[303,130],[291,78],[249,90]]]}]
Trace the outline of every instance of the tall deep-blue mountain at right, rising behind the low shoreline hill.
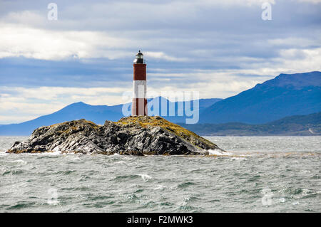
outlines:
[{"label": "tall deep-blue mountain at right, rising behind the low shoreline hill", "polygon": [[280,74],[205,108],[200,122],[263,124],[320,111],[321,72]]}]

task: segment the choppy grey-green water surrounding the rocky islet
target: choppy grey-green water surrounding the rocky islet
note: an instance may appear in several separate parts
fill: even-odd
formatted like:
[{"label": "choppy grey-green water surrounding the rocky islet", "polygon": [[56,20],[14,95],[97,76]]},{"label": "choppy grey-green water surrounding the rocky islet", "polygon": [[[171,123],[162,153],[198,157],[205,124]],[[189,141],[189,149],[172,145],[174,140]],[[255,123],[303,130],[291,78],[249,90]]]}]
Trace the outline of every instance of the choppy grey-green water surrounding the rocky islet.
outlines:
[{"label": "choppy grey-green water surrounding the rocky islet", "polygon": [[320,212],[321,137],[208,137],[226,157],[5,154],[0,212]]}]

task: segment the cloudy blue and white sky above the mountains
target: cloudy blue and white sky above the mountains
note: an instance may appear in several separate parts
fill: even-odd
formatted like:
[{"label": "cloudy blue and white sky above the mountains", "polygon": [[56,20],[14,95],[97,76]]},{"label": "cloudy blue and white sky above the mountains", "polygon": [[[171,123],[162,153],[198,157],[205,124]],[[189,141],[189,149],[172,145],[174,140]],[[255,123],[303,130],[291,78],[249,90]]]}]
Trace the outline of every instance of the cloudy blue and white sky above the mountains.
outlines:
[{"label": "cloudy blue and white sky above the mountains", "polygon": [[321,0],[0,0],[0,125],[123,103],[139,49],[156,93],[225,98],[321,70],[320,12]]}]

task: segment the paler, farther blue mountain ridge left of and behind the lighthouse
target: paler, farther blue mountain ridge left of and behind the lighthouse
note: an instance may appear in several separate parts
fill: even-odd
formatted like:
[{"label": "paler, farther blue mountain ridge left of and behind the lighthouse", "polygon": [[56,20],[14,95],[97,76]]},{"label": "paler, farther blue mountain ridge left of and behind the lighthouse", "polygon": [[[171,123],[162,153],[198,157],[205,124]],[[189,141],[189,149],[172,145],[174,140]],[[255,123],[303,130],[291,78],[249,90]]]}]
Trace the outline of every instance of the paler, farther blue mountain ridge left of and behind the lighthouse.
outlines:
[{"label": "paler, farther blue mountain ridge left of and behind the lighthouse", "polygon": [[[160,105],[161,100],[165,100],[168,107],[170,103],[172,103],[163,97],[156,97],[155,99],[159,99]],[[206,107],[213,105],[213,103],[218,102],[219,100],[221,99],[212,98],[199,100],[200,111],[203,111]],[[151,100],[148,101],[148,103],[151,102]],[[130,103],[126,105],[128,108],[131,108]],[[175,112],[177,113],[178,102],[175,102],[174,105],[176,110]],[[0,135],[29,135],[36,128],[41,126],[54,125],[71,120],[80,120],[82,118],[95,122],[98,125],[103,125],[106,120],[118,121],[121,119],[121,117],[123,117],[122,108],[123,105],[88,105],[83,102],[76,102],[58,110],[57,112],[38,117],[34,120],[29,120],[19,124],[0,125]],[[161,106],[159,110],[161,112]],[[167,108],[167,110],[169,110],[169,108]],[[172,122],[185,122],[185,116],[168,116],[164,118],[167,120],[169,119]]]}]

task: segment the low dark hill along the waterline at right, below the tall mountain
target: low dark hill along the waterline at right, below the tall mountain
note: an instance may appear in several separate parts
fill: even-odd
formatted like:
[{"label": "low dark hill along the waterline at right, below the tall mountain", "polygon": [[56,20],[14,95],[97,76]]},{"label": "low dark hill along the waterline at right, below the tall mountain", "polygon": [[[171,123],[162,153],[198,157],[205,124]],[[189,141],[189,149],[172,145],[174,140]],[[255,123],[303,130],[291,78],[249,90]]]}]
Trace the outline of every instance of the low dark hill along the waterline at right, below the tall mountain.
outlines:
[{"label": "low dark hill along the waterline at right, below the tall mountain", "polygon": [[179,125],[203,136],[319,136],[321,135],[321,112],[284,117],[262,125],[240,122],[196,125],[180,123]]}]

